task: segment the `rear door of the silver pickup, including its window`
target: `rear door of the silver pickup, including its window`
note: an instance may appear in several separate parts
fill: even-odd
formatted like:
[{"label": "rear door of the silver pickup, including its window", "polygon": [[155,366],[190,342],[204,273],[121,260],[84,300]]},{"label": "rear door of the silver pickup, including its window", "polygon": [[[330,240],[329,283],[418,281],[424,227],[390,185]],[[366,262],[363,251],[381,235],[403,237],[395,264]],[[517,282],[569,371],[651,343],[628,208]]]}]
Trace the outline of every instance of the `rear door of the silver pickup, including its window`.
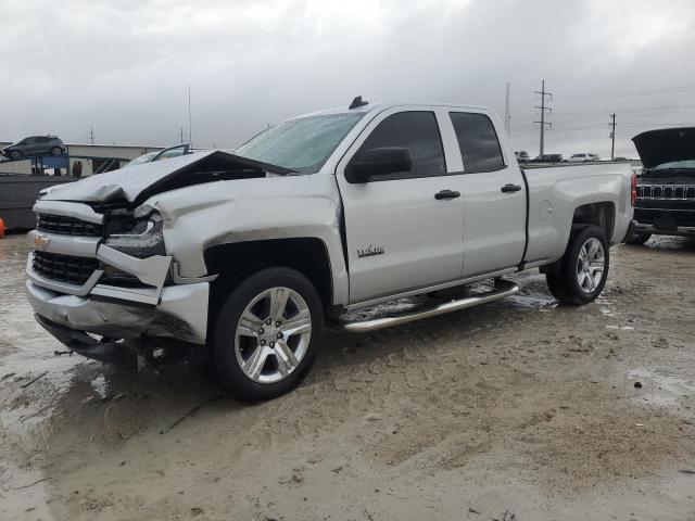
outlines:
[{"label": "rear door of the silver pickup, including its window", "polygon": [[484,113],[451,112],[464,164],[464,278],[517,266],[526,245],[526,185]]}]

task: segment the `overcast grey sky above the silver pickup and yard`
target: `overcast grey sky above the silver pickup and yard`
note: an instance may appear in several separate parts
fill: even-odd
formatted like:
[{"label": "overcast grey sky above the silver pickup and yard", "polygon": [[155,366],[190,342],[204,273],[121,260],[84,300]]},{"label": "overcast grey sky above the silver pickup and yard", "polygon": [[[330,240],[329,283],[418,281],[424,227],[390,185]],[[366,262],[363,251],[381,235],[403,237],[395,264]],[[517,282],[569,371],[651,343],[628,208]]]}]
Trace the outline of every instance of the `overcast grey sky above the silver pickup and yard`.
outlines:
[{"label": "overcast grey sky above the silver pickup and yard", "polygon": [[695,125],[695,0],[0,0],[0,140],[236,147],[270,123],[370,101],[504,112],[538,154],[609,156],[630,138]]}]

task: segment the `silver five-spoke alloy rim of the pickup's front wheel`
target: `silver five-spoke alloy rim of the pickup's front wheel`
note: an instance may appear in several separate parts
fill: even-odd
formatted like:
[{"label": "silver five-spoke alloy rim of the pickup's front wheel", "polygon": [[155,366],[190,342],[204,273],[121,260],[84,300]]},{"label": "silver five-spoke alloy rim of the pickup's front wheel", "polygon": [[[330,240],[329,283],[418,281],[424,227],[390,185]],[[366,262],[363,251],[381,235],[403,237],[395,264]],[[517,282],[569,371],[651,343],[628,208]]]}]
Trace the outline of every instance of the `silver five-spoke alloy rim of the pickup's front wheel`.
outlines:
[{"label": "silver five-spoke alloy rim of the pickup's front wheel", "polygon": [[312,338],[306,301],[290,288],[270,288],[244,308],[235,331],[235,354],[256,383],[286,379],[300,365]]}]

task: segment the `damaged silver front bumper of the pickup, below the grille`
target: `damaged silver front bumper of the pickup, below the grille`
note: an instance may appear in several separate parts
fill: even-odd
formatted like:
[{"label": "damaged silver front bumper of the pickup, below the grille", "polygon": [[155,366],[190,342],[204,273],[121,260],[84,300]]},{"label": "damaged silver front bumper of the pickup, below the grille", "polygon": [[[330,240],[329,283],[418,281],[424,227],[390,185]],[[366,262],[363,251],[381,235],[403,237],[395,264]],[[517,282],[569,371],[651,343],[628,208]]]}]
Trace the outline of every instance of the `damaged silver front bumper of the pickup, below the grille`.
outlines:
[{"label": "damaged silver front bumper of the pickup, below the grille", "polygon": [[123,300],[110,302],[99,295],[66,295],[30,280],[26,282],[26,291],[37,315],[71,330],[111,339],[172,336],[205,343],[208,282],[166,287],[159,305],[148,307]]}]

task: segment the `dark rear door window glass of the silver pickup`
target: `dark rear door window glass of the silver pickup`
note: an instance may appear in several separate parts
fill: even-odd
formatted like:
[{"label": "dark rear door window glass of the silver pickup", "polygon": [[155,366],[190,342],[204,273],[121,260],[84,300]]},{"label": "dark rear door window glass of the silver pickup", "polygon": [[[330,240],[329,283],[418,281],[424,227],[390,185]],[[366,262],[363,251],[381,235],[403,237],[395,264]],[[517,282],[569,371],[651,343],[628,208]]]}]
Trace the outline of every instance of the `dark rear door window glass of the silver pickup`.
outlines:
[{"label": "dark rear door window glass of the silver pickup", "polygon": [[504,168],[497,132],[488,116],[467,112],[452,112],[450,115],[466,174]]}]

